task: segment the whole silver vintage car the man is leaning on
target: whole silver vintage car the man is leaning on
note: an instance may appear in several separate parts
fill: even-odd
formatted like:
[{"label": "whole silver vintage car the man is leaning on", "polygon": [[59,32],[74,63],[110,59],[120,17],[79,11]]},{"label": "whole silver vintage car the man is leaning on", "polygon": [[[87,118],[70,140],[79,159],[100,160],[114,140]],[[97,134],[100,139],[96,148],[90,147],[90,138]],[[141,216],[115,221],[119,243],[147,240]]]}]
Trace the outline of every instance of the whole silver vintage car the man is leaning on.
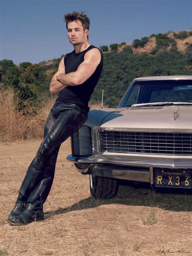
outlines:
[{"label": "whole silver vintage car the man is leaning on", "polygon": [[89,112],[71,147],[96,198],[113,198],[119,179],[190,189],[192,76],[134,79],[116,109]]}]

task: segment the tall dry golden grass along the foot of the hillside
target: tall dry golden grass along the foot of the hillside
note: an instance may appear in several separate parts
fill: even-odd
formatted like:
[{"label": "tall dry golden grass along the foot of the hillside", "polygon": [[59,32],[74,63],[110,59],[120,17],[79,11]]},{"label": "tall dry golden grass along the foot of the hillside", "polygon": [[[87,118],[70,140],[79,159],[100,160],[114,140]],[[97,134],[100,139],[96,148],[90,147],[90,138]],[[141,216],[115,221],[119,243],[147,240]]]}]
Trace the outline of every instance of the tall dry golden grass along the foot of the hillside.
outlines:
[{"label": "tall dry golden grass along the foot of the hillside", "polygon": [[[29,107],[27,110],[30,114],[25,115],[23,111],[17,110],[18,102],[14,100],[12,90],[0,91],[0,142],[42,139],[45,122],[55,98],[47,97],[46,104],[36,114]],[[101,103],[90,105],[91,109],[100,107]]]}]

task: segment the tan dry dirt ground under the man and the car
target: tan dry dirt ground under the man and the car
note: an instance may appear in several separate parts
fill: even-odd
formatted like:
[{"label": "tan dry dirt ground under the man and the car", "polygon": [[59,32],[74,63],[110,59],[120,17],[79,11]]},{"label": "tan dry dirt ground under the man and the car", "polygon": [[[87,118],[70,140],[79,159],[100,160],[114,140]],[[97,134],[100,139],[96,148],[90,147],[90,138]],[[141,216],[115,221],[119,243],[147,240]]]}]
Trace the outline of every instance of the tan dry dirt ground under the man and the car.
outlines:
[{"label": "tan dry dirt ground under the man and the car", "polygon": [[45,220],[10,226],[26,169],[40,141],[0,143],[0,255],[192,255],[192,195],[122,183],[113,199],[90,196],[89,176],[58,156]]}]

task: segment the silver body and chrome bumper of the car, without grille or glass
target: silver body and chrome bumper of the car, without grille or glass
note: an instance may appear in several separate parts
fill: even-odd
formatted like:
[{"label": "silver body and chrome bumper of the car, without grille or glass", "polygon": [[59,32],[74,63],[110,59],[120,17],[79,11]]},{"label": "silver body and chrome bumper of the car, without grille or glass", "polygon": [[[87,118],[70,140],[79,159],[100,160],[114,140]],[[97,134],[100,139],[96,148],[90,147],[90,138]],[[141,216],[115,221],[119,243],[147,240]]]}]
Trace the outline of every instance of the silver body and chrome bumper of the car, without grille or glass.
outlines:
[{"label": "silver body and chrome bumper of the car, without grille or glass", "polygon": [[[140,77],[134,79],[132,83],[134,81],[169,79],[192,79],[192,76]],[[177,174],[180,171],[192,171],[192,154],[139,154],[138,152],[101,151],[99,139],[101,131],[119,131],[191,134],[192,141],[192,105],[162,105],[160,107],[145,107],[143,105],[143,107],[97,109],[90,111],[85,126],[91,128],[92,154],[80,157],[72,154],[67,157],[68,160],[75,163],[77,169],[83,174],[154,184],[155,169],[160,169],[162,172],[166,171],[168,174],[169,172]],[[192,151],[191,147],[190,150]]]}]

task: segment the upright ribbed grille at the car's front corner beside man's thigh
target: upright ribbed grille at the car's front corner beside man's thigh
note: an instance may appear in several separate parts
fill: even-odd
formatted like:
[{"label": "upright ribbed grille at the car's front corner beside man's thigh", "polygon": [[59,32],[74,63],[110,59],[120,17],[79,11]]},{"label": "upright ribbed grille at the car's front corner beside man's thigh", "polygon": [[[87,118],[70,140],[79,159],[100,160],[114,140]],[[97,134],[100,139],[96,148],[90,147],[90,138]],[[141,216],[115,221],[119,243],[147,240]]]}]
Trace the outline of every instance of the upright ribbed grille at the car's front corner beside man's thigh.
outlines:
[{"label": "upright ribbed grille at the car's front corner beside man's thigh", "polygon": [[71,135],[72,156],[92,155],[92,130],[90,126],[83,125]]}]

